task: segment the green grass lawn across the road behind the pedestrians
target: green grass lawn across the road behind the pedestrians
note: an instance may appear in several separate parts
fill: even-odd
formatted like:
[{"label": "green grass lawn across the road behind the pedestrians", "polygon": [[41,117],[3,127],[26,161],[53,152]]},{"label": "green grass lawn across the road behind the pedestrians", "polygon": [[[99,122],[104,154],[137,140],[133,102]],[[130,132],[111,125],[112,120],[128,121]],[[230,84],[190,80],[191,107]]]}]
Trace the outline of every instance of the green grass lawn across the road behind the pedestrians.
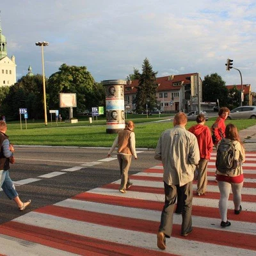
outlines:
[{"label": "green grass lawn across the road behind the pedestrians", "polygon": [[[166,129],[173,127],[172,121],[157,122],[159,120],[168,120],[170,115],[147,116],[146,115],[128,115],[129,120],[136,124],[134,132],[136,134],[137,148],[155,148],[157,140]],[[207,126],[211,127],[216,118],[209,118]],[[226,124],[232,122],[238,130],[245,129],[256,124],[256,120],[227,120]],[[106,133],[106,119],[94,118],[93,123],[89,124],[88,117],[79,119],[77,124],[68,124],[65,122],[56,122],[51,120],[45,127],[44,121],[28,121],[27,128],[25,121],[22,120],[22,129],[20,122],[8,122],[7,134],[11,143],[14,145],[50,145],[50,146],[76,146],[76,147],[111,147],[116,134]],[[188,122],[188,129],[196,122]]]}]

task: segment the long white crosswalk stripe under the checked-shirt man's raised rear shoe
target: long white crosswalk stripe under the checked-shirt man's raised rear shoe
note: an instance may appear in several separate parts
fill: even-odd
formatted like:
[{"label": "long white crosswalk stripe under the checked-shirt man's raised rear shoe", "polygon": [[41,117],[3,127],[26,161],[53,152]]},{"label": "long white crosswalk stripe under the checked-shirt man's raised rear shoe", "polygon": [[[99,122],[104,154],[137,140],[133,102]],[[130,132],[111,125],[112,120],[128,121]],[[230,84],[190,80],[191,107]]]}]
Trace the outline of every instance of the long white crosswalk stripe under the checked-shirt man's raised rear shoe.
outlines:
[{"label": "long white crosswalk stripe under the checked-shirt man's raised rear shoe", "polygon": [[[132,246],[136,246],[138,248],[146,248],[159,252],[156,248],[156,234],[125,230],[124,236],[124,230],[122,228],[106,227],[93,223],[68,220],[66,218],[60,218],[49,214],[38,214],[35,212],[29,212],[29,214],[26,214],[26,218],[21,216],[16,220],[20,223],[26,223],[27,225],[35,225],[36,223],[37,227],[46,227],[51,228],[52,230],[61,231],[68,230],[68,232],[80,236],[93,237],[127,245],[132,244]],[[63,225],[63,223],[65,223],[65,225]],[[167,248],[164,253],[174,253],[177,255],[198,256],[198,253],[200,254],[200,252],[202,252],[202,248],[204,248],[205,255],[207,254],[212,256],[216,256],[216,252],[221,252],[221,255],[253,255],[252,250],[236,248],[236,252],[234,252],[234,248],[209,243],[204,243],[204,247],[202,247],[200,242],[186,240],[186,243],[184,243],[184,239],[176,237],[167,239],[166,245]]]}]

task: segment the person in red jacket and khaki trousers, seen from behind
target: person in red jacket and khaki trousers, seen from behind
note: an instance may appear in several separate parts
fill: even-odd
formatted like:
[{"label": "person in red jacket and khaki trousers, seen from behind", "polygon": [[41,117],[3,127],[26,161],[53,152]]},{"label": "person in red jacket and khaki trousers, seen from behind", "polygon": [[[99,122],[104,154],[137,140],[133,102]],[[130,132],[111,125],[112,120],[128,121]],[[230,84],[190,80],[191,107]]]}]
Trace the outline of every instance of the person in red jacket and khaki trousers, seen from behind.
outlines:
[{"label": "person in red jacket and khaki trousers, seen from behind", "polygon": [[198,166],[196,167],[198,172],[196,195],[202,196],[205,195],[206,191],[207,164],[211,157],[213,144],[211,131],[208,126],[204,125],[204,114],[199,114],[198,116],[196,116],[196,123],[197,124],[190,127],[188,131],[195,134],[200,150],[200,161]]}]

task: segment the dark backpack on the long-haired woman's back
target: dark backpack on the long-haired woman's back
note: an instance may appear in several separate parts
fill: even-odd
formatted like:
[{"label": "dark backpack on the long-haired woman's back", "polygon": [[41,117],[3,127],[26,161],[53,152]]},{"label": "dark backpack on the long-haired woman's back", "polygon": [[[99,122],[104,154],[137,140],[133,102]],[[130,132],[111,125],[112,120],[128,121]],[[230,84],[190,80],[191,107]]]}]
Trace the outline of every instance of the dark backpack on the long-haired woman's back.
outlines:
[{"label": "dark backpack on the long-haired woman's back", "polygon": [[219,172],[230,175],[236,170],[239,162],[235,159],[236,148],[228,139],[222,139],[217,148],[216,168]]}]

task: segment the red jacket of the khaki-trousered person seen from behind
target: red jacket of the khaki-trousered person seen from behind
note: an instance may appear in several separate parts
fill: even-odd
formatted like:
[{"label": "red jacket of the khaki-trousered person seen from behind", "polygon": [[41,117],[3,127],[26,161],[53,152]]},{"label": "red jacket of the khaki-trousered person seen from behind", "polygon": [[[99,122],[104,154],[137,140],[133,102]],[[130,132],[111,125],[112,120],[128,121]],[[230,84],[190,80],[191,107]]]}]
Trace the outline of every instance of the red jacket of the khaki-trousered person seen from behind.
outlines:
[{"label": "red jacket of the khaki-trousered person seen from behind", "polygon": [[197,124],[188,129],[189,132],[195,134],[198,147],[200,150],[200,158],[210,159],[212,152],[212,136],[208,126]]}]

